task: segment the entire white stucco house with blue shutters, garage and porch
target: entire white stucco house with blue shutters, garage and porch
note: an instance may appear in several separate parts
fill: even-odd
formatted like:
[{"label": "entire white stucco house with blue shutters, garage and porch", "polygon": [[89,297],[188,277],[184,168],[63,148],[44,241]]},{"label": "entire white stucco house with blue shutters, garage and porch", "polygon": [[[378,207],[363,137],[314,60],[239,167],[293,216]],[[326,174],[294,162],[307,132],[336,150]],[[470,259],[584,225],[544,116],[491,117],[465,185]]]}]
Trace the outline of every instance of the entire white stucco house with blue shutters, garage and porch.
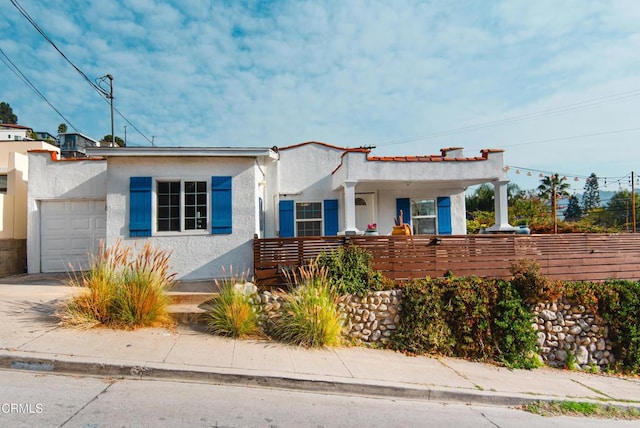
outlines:
[{"label": "entire white stucco house with blue shutters, garage and porch", "polygon": [[464,191],[496,187],[493,230],[512,230],[502,150],[465,157],[372,156],[308,142],[281,148],[92,148],[29,155],[28,270],[69,270],[107,245],[151,241],[182,280],[253,269],[257,237],[388,234],[400,210],[414,233],[466,234]]}]

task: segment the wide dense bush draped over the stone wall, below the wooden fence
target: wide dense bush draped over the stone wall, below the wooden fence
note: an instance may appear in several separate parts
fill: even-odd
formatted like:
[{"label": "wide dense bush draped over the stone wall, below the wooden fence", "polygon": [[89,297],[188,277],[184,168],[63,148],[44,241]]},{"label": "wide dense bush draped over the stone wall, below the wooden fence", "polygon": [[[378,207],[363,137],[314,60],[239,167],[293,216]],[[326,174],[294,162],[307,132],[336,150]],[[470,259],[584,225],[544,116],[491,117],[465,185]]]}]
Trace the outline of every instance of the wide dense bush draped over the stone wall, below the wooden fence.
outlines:
[{"label": "wide dense bush draped over the stone wall, below the wooden fence", "polygon": [[511,367],[535,366],[533,314],[504,281],[421,279],[402,291],[402,312],[392,347]]}]

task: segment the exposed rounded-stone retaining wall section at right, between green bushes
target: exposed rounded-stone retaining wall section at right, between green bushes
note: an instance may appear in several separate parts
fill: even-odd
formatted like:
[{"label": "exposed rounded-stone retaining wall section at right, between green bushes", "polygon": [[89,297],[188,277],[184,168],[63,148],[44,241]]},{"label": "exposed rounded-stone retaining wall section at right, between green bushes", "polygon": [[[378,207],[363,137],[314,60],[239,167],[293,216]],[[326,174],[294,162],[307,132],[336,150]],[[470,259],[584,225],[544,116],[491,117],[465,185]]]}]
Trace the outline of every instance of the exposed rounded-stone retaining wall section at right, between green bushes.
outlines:
[{"label": "exposed rounded-stone retaining wall section at right, between green bushes", "polygon": [[[533,308],[538,347],[545,364],[564,367],[570,355],[582,369],[603,367],[613,362],[608,327],[582,305],[567,300],[539,303]],[[577,367],[576,367],[577,368]]]}]

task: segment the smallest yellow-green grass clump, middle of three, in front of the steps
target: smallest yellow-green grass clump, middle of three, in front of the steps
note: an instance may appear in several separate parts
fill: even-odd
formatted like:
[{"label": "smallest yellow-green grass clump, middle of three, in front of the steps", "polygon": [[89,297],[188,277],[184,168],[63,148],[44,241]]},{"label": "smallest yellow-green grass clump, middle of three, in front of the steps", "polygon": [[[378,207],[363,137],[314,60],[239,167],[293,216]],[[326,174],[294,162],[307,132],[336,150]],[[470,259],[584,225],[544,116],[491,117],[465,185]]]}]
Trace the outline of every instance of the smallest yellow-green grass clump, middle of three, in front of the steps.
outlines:
[{"label": "smallest yellow-green grass clump, middle of three, in front of the steps", "polygon": [[216,280],[216,285],[219,295],[206,313],[211,331],[230,337],[259,335],[259,297],[255,286],[233,276]]}]

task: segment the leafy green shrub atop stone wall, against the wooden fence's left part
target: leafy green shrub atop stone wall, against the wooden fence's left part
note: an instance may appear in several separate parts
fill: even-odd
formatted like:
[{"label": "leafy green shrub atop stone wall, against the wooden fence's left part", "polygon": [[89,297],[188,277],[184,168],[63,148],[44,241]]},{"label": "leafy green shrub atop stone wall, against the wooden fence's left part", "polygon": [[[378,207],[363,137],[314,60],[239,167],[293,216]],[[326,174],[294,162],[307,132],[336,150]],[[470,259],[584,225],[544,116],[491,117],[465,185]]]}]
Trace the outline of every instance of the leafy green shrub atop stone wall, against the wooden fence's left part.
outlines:
[{"label": "leafy green shrub atop stone wall, against the wooden fence's left part", "polygon": [[373,255],[355,245],[340,247],[332,252],[322,252],[317,258],[319,267],[327,269],[329,285],[341,295],[381,290],[385,285],[380,272],[373,270]]}]

